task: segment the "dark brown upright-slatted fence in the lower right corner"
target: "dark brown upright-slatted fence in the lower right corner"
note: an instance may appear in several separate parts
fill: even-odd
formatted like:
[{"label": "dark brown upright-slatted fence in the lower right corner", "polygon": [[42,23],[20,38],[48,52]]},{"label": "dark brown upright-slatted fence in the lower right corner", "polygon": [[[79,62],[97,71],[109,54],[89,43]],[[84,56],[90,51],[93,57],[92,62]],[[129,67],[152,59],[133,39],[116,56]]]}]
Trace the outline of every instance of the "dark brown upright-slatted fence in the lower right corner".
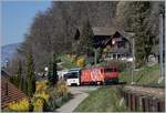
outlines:
[{"label": "dark brown upright-slatted fence in the lower right corner", "polygon": [[164,112],[165,100],[151,95],[138,94],[120,90],[121,96],[124,97],[125,105],[129,111],[143,112]]}]

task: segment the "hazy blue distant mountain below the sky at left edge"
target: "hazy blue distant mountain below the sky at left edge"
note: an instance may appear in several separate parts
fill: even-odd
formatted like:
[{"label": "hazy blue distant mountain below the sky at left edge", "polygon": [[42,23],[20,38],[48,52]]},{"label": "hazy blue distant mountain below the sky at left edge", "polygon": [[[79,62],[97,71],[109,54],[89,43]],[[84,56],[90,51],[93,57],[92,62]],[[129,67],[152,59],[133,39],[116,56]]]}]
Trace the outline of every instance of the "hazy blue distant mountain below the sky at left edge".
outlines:
[{"label": "hazy blue distant mountain below the sky at left edge", "polygon": [[20,44],[21,43],[14,43],[1,47],[1,65],[6,64],[6,60],[12,60]]}]

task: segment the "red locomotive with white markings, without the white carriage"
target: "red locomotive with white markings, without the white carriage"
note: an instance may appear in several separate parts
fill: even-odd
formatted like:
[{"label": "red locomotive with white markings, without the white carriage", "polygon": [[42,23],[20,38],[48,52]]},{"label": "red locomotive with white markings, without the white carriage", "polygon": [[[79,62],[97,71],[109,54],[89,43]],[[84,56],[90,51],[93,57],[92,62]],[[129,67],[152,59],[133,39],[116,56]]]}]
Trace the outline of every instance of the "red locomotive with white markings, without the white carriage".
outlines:
[{"label": "red locomotive with white markings, without the white carriage", "polygon": [[81,72],[81,84],[118,83],[118,71],[116,68],[91,68]]}]

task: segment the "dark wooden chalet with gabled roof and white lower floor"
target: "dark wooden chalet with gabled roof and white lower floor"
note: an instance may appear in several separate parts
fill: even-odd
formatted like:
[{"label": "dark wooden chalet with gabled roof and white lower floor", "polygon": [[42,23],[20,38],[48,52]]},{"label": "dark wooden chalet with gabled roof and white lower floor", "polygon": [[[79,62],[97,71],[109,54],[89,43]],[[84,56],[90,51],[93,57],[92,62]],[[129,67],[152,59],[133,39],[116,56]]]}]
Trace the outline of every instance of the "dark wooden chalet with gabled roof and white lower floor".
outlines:
[{"label": "dark wooden chalet with gabled roof and white lower floor", "polygon": [[[94,48],[108,50],[104,52],[104,60],[124,60],[132,56],[132,35],[115,29],[114,27],[93,27]],[[80,29],[76,30],[75,38],[79,40]]]}]

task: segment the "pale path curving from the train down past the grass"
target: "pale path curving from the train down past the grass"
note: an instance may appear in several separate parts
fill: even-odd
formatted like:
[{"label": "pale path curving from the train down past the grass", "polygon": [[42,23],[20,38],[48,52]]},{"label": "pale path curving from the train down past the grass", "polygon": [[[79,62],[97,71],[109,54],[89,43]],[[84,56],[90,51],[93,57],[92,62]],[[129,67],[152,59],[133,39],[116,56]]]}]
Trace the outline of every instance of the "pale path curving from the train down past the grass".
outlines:
[{"label": "pale path curving from the train down past the grass", "polygon": [[89,91],[96,90],[97,88],[93,86],[76,86],[76,88],[70,88],[71,93],[73,94],[73,99],[71,99],[68,103],[62,105],[56,110],[56,112],[73,112],[76,106],[89,96]]}]

